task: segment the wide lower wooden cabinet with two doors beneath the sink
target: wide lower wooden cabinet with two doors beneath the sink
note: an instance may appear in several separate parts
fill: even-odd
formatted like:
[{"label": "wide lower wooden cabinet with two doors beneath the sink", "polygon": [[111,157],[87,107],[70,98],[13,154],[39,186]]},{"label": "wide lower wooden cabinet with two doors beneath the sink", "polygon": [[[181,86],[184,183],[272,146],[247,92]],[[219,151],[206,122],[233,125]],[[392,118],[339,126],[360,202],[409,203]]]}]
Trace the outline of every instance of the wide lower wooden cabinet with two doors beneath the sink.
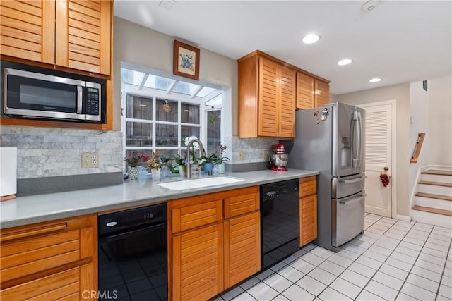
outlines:
[{"label": "wide lower wooden cabinet with two doors beneath the sink", "polygon": [[258,192],[168,202],[168,300],[208,300],[261,269]]}]

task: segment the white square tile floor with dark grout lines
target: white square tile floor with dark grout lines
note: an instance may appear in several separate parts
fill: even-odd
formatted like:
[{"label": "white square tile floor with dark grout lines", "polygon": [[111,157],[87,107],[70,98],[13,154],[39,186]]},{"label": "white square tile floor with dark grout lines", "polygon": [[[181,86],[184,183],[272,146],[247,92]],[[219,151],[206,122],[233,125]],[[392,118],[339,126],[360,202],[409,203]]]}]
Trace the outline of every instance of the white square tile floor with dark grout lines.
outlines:
[{"label": "white square tile floor with dark grout lines", "polygon": [[366,214],[340,252],[307,245],[214,301],[452,300],[451,240],[450,228]]}]

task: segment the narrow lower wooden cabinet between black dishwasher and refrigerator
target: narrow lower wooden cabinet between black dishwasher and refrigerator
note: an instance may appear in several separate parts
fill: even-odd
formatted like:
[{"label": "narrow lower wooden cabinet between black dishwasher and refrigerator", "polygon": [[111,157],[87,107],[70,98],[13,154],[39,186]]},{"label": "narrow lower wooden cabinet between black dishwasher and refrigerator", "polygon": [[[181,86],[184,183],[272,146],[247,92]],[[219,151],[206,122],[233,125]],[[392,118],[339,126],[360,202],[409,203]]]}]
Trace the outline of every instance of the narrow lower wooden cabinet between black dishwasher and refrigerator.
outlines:
[{"label": "narrow lower wooden cabinet between black dishwasher and refrigerator", "polygon": [[317,238],[316,176],[299,180],[299,244],[307,245]]}]

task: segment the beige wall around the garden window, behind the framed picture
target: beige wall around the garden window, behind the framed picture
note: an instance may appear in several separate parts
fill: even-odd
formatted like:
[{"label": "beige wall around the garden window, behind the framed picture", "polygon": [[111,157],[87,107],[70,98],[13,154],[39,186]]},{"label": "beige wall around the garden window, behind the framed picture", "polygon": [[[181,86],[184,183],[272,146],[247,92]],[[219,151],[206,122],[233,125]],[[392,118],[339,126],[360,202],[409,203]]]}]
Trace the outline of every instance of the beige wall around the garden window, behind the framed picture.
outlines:
[{"label": "beige wall around the garden window, behind the framed picture", "polygon": [[[121,61],[172,73],[174,37],[114,17],[114,130],[121,129]],[[231,87],[232,135],[237,135],[237,61],[201,48],[199,80]]]}]

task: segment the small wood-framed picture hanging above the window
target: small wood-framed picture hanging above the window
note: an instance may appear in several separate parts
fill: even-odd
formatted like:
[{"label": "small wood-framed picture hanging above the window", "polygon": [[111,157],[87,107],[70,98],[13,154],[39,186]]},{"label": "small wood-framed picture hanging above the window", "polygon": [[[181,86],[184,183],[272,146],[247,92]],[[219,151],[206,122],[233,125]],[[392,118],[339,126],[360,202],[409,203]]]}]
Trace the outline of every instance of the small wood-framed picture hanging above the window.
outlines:
[{"label": "small wood-framed picture hanging above the window", "polygon": [[173,73],[199,80],[199,48],[174,40]]}]

